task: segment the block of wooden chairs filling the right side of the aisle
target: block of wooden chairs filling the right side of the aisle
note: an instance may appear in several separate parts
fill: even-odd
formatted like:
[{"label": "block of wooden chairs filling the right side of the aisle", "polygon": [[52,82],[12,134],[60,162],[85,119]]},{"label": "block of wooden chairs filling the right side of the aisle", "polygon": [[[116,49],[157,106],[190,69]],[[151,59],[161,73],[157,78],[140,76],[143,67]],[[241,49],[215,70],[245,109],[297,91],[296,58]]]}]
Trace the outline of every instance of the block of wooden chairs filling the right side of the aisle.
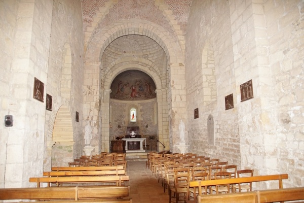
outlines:
[{"label": "block of wooden chairs filling the right side of the aisle", "polygon": [[[199,191],[189,188],[189,181],[236,178],[243,175],[253,176],[253,170],[237,171],[237,165],[228,165],[227,161],[197,156],[192,153],[171,155],[149,153],[147,157],[146,167],[149,167],[158,180],[162,181],[164,192],[166,188],[168,189],[170,202],[172,193],[177,201],[180,200],[180,194],[184,195],[184,200],[196,199]],[[233,186],[213,186],[203,188],[200,194],[241,192],[242,190],[251,191],[251,188],[251,183]]]}]

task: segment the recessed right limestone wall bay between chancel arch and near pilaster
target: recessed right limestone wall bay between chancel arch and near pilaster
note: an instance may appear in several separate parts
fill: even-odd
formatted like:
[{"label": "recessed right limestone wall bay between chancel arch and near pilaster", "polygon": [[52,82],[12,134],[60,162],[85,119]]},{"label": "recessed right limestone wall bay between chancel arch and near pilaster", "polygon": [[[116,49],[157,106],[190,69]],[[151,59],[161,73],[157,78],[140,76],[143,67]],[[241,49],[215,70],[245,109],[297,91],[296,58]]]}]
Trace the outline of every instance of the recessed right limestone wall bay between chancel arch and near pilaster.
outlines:
[{"label": "recessed right limestone wall bay between chancel arch and near pilaster", "polygon": [[[186,36],[188,140],[194,153],[240,165],[234,56],[228,1],[193,1]],[[234,108],[225,110],[226,95]],[[194,110],[199,109],[199,118]],[[208,116],[214,120],[209,143]]]}]

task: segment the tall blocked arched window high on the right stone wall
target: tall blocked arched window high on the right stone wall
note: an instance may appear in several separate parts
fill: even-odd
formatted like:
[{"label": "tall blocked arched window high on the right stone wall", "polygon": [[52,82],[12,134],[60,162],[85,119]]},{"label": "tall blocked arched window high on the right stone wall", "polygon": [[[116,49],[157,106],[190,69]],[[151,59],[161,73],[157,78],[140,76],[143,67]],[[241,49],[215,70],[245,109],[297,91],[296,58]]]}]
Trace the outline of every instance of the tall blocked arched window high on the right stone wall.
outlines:
[{"label": "tall blocked arched window high on the right stone wall", "polygon": [[217,98],[214,52],[212,45],[208,42],[202,52],[202,78],[204,105],[208,105]]}]

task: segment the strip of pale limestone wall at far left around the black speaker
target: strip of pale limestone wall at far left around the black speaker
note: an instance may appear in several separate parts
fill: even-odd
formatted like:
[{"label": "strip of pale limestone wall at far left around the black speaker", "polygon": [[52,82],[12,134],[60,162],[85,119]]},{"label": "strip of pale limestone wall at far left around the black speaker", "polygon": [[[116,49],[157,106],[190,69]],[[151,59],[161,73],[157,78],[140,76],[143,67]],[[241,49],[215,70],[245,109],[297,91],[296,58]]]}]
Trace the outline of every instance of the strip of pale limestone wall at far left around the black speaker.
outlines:
[{"label": "strip of pale limestone wall at far left around the black speaker", "polygon": [[[15,35],[17,28],[17,1],[1,1],[0,2],[0,45],[3,47],[0,50],[0,115],[3,118],[5,115],[13,114],[10,110],[10,100],[12,94],[10,92],[12,84],[12,61],[14,59],[14,46],[15,46]],[[8,46],[10,45],[10,46]],[[16,121],[15,121],[16,122]],[[11,134],[11,127],[5,127],[4,123],[0,125],[0,154],[6,157],[6,149],[9,136]],[[22,160],[18,161],[21,164]],[[4,188],[5,181],[5,168],[7,159],[0,159],[0,188]],[[21,178],[20,176],[18,178]]]}]

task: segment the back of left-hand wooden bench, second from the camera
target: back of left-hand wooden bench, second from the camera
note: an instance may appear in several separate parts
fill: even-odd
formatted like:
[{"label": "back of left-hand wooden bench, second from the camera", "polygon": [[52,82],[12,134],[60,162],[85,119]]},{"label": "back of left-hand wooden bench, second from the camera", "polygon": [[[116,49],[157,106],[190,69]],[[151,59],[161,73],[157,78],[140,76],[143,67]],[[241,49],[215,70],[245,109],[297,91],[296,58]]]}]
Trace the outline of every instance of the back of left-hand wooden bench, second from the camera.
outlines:
[{"label": "back of left-hand wooden bench, second from the camera", "polygon": [[29,178],[29,182],[37,183],[37,187],[40,187],[40,183],[57,183],[57,186],[64,183],[114,183],[117,186],[121,186],[123,182],[129,181],[129,176],[78,176],[78,177],[41,177],[41,178]]}]

